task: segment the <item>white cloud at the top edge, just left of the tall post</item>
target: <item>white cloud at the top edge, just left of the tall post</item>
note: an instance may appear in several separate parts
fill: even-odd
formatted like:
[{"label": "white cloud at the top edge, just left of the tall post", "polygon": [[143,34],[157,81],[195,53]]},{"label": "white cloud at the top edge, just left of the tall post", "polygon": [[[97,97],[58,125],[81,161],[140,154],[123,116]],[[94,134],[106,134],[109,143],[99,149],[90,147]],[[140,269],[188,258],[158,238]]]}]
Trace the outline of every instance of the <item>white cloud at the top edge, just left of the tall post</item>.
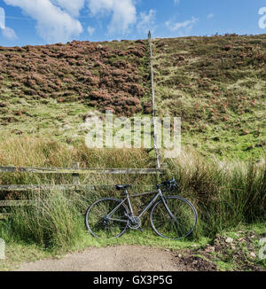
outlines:
[{"label": "white cloud at the top edge, just left of the tall post", "polygon": [[133,0],[88,0],[92,16],[112,15],[108,25],[109,34],[126,34],[137,21],[137,10]]}]

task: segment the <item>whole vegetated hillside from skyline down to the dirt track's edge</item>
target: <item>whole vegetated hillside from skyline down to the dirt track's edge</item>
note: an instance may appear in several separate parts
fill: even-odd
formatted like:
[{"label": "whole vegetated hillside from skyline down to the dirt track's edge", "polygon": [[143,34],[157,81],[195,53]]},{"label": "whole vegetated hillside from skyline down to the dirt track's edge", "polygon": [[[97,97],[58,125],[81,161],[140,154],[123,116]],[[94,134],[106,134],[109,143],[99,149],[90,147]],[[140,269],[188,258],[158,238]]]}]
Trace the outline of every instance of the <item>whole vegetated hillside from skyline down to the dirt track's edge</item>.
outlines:
[{"label": "whole vegetated hillside from skyline down to the dirt track's edge", "polygon": [[[182,117],[180,158],[164,160],[168,169],[161,176],[81,175],[80,183],[89,185],[82,191],[53,186],[77,184],[75,174],[3,172],[1,189],[9,191],[0,191],[0,216],[12,215],[0,220],[0,238],[7,244],[0,270],[118,245],[178,251],[177,263],[188,269],[265,269],[259,240],[266,228],[266,35],[154,39],[153,54],[156,113]],[[149,60],[144,40],[0,46],[0,166],[154,168],[150,150],[89,149],[83,125],[92,116],[104,118],[106,110],[151,117]],[[166,194],[190,200],[198,212],[192,236],[158,238],[149,214],[142,220],[144,232],[130,231],[119,239],[90,238],[84,230],[92,203],[121,198],[114,184],[133,184],[133,194],[172,177],[180,190]],[[29,184],[48,184],[51,189],[17,191],[16,184],[28,190]],[[152,196],[139,197],[132,199],[136,215]],[[3,202],[20,199],[36,206]]]}]

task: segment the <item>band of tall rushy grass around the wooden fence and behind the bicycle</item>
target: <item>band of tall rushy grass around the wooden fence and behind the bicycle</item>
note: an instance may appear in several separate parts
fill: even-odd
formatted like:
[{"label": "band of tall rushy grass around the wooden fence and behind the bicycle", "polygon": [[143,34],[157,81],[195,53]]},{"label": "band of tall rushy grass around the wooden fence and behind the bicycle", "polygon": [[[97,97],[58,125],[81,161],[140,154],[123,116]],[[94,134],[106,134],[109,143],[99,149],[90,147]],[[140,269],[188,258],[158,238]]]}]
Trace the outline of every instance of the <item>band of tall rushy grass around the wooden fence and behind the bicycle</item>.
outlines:
[{"label": "band of tall rushy grass around the wooden fence and behind the bicycle", "polygon": [[[90,150],[83,144],[69,149],[66,144],[32,137],[6,138],[1,143],[0,152],[0,164],[3,166],[67,167],[73,161],[80,161],[82,167],[101,168],[145,168],[150,164],[149,153],[145,150]],[[29,244],[48,254],[64,254],[86,246],[121,244],[162,246],[177,250],[193,244],[204,246],[216,234],[223,230],[234,230],[239,223],[265,221],[265,164],[222,162],[203,158],[190,150],[183,151],[176,160],[166,161],[168,172],[163,179],[175,176],[181,189],[175,193],[190,199],[198,210],[200,222],[192,238],[180,242],[158,238],[152,232],[147,217],[143,222],[143,234],[130,231],[123,238],[111,241],[91,238],[84,230],[84,213],[96,199],[110,196],[119,198],[120,194],[111,187],[106,191],[43,191],[24,194],[23,198],[35,200],[35,206],[16,208],[12,219],[1,222],[0,238],[4,238],[8,246]],[[163,179],[154,176],[95,176],[90,180],[82,178],[81,181],[82,184],[135,184],[135,190],[145,191],[145,185],[156,184]],[[72,177],[30,174],[1,176],[1,184],[30,183],[71,184]],[[14,192],[3,197],[21,199],[20,193]],[[140,210],[141,203],[147,201],[145,196],[134,199],[133,207]],[[228,262],[227,259],[225,261]]]}]

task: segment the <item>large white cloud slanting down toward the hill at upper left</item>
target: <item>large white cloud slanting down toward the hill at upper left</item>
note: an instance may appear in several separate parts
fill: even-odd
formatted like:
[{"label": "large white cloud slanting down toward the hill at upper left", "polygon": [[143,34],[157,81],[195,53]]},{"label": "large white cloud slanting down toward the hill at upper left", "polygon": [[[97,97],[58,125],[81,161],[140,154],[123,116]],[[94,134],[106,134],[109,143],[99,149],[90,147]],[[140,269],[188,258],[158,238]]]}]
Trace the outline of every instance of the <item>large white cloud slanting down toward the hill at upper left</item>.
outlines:
[{"label": "large white cloud slanting down toward the hill at upper left", "polygon": [[36,20],[36,30],[47,43],[66,43],[82,33],[81,23],[59,6],[52,4],[50,0],[4,0],[4,2],[20,7],[23,12]]}]

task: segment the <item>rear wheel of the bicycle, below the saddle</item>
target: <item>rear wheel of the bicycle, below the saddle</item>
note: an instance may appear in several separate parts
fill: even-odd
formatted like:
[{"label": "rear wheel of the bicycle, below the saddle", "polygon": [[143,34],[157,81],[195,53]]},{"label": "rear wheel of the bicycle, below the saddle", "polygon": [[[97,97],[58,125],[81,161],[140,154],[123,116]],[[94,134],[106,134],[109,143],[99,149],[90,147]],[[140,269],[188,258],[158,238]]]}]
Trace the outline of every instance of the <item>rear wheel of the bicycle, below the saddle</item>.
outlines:
[{"label": "rear wheel of the bicycle, below the saddle", "polygon": [[[92,236],[96,238],[118,238],[128,228],[128,209],[119,199],[99,199],[92,204],[85,217],[85,223]],[[108,217],[115,207],[118,209]]]}]

